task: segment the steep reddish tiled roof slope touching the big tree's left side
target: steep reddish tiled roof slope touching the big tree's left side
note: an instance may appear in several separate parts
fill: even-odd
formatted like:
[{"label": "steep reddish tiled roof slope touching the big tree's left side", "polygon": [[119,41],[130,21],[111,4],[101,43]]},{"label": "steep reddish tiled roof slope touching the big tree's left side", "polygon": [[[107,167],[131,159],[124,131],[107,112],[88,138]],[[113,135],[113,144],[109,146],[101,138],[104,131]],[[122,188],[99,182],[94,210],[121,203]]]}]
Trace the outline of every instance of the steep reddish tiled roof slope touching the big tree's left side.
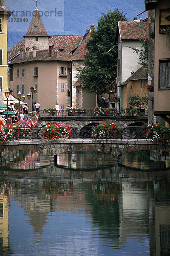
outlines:
[{"label": "steep reddish tiled roof slope touching the big tree's left side", "polygon": [[84,60],[84,55],[88,52],[87,41],[91,39],[90,31],[91,30],[88,30],[88,32],[82,38],[81,44],[79,44],[71,57],[72,60]]}]

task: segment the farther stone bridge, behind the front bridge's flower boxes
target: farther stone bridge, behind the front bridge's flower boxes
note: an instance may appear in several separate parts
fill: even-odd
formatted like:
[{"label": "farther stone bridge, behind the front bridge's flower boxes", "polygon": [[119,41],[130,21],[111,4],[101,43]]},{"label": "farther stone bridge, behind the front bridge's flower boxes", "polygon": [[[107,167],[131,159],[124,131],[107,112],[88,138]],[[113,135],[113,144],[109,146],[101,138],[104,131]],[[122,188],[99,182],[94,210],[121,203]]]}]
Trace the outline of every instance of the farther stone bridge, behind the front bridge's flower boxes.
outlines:
[{"label": "farther stone bridge, behind the front bridge's flower boxes", "polygon": [[148,122],[142,116],[40,116],[35,127],[40,130],[43,126],[53,122],[67,123],[69,127],[83,128],[96,126],[99,122],[114,122],[119,127],[141,126]]}]

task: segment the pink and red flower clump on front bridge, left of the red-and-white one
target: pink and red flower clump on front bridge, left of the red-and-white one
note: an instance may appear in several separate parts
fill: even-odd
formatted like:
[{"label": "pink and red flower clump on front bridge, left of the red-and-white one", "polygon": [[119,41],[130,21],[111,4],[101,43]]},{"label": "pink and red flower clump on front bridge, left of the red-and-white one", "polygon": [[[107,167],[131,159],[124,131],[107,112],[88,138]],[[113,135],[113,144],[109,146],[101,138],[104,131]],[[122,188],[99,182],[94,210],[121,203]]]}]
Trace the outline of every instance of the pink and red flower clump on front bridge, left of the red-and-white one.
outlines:
[{"label": "pink and red flower clump on front bridge, left of the red-and-white one", "polygon": [[41,134],[46,140],[57,140],[61,138],[68,138],[71,134],[71,130],[68,124],[52,123],[42,127]]}]

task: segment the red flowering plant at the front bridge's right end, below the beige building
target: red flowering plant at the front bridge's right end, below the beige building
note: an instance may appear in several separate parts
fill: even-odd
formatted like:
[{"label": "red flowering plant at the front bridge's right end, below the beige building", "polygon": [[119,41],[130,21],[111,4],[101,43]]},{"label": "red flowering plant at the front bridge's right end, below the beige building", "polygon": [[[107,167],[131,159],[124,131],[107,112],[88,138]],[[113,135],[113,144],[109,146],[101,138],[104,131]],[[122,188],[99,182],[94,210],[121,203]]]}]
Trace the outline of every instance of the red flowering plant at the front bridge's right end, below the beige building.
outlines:
[{"label": "red flowering plant at the front bridge's right end, below the beige building", "polygon": [[167,144],[170,142],[170,128],[164,126],[161,123],[157,124],[144,124],[141,128],[141,133],[147,139],[153,142],[161,142],[162,144]]}]

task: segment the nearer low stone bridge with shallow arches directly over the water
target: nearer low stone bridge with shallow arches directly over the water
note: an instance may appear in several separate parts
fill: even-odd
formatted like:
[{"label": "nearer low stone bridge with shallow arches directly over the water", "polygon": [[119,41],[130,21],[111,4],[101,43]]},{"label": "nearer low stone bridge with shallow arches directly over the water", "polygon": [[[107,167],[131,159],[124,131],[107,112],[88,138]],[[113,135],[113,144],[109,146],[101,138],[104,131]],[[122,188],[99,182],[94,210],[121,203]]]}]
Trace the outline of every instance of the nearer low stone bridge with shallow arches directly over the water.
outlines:
[{"label": "nearer low stone bridge with shallow arches directly over the water", "polygon": [[138,150],[156,150],[170,154],[169,145],[152,143],[146,139],[62,139],[55,141],[23,140],[0,143],[0,157],[8,151],[24,150],[36,151],[48,155],[50,161],[55,161],[57,154],[67,151],[93,150],[113,155],[113,160],[118,161],[124,153]]}]

